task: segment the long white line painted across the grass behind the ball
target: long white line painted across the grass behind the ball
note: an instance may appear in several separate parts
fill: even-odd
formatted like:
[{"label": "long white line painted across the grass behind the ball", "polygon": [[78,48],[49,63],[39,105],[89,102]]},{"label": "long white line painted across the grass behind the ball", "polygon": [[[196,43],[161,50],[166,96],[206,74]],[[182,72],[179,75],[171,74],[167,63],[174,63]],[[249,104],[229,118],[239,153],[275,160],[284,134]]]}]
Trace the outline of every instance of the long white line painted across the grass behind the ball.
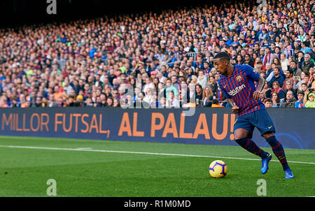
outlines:
[{"label": "long white line painted across the grass behind the ball", "polygon": [[[218,157],[218,156],[207,156],[207,155],[195,155],[195,154],[169,154],[169,153],[158,153],[158,152],[130,152],[130,151],[112,151],[112,150],[90,150],[87,148],[57,148],[57,147],[29,147],[29,146],[13,146],[13,145],[0,145],[3,148],[18,148],[18,149],[31,149],[31,150],[67,150],[67,151],[79,151],[79,152],[111,152],[111,153],[125,153],[125,154],[151,154],[151,155],[165,155],[165,156],[179,156],[179,157],[206,157],[206,158],[218,158],[218,159],[237,159],[247,161],[261,161],[261,159],[246,159],[238,157]],[[278,161],[278,160],[271,160]],[[300,161],[288,161],[289,163],[304,163],[304,164],[315,164],[309,162]]]}]

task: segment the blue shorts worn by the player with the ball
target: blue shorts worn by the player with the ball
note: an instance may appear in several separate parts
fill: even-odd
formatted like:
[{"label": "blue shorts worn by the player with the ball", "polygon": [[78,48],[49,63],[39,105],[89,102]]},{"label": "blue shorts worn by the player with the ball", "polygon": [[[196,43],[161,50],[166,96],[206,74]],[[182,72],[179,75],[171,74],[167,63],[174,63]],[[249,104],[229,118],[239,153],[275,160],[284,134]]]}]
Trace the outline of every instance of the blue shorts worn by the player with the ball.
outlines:
[{"label": "blue shorts worn by the player with the ball", "polygon": [[237,117],[234,124],[234,131],[236,129],[246,129],[249,131],[248,138],[252,138],[255,127],[260,131],[261,136],[267,132],[276,132],[272,119],[270,119],[265,109],[256,110],[247,115]]}]

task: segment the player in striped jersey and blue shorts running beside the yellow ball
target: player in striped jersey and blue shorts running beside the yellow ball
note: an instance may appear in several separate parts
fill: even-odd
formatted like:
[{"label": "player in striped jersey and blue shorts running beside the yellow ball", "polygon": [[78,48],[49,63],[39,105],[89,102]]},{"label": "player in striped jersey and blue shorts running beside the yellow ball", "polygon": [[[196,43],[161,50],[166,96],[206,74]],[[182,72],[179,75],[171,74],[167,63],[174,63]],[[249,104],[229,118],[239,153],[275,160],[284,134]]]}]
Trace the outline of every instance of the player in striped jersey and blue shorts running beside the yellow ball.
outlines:
[{"label": "player in striped jersey and blue shorts running beside the yellow ball", "polygon": [[[221,73],[218,81],[223,94],[228,99],[232,107],[232,112],[238,114],[234,125],[235,142],[244,149],[258,155],[261,160],[261,173],[267,173],[269,161],[272,154],[261,150],[251,138],[253,130],[256,127],[267,143],[272,147],[274,155],[282,164],[285,177],[293,178],[293,173],[288,166],[286,155],[281,143],[276,140],[274,133],[274,124],[270,119],[262,99],[265,94],[262,88],[265,85],[265,79],[259,75],[251,66],[232,65],[230,55],[227,52],[219,52],[214,57],[214,66]],[[255,82],[258,83],[257,89]]]}]

